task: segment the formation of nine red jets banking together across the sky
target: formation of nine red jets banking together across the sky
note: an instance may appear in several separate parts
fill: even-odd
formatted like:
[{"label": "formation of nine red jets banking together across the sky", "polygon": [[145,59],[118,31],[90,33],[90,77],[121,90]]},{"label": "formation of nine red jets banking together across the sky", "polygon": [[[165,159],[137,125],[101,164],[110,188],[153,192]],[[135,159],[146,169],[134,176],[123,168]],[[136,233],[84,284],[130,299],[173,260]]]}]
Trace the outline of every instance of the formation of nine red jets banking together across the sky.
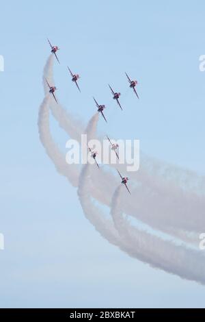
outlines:
[{"label": "formation of nine red jets banking together across the sky", "polygon": [[[59,62],[59,59],[57,58],[57,54],[56,54],[57,51],[59,50],[59,47],[51,45],[51,42],[49,41],[49,39],[48,39],[48,42],[49,42],[49,45],[51,47],[51,53],[53,53],[55,55],[55,58],[57,59],[57,62]],[[70,72],[70,75],[72,77],[71,78],[72,82],[74,82],[76,84],[79,92],[81,92],[81,90],[79,88],[79,84],[77,83],[77,81],[80,78],[80,75],[79,74],[73,74],[69,67],[68,67],[68,71]],[[137,91],[135,89],[135,87],[137,86],[138,82],[136,80],[131,80],[131,78],[128,76],[128,74],[127,73],[125,73],[125,74],[126,74],[126,77],[128,79],[128,82],[129,82],[129,87],[133,88],[133,91],[135,92],[135,95],[139,99],[139,96],[138,96]],[[49,93],[51,93],[53,95],[53,98],[55,99],[55,102],[57,103],[57,99],[56,99],[55,94],[54,94],[54,92],[55,92],[55,90],[57,90],[57,88],[55,86],[51,86],[49,84],[49,82],[47,81],[47,79],[45,79],[45,80],[46,80],[46,84],[49,86]],[[111,90],[111,94],[113,95],[113,99],[115,99],[115,101],[117,102],[118,106],[122,110],[122,106],[120,104],[120,95],[121,95],[120,92],[115,92],[113,90],[113,88],[111,88],[110,85],[109,85],[109,88]],[[106,106],[105,105],[99,105],[94,97],[93,97],[93,99],[94,99],[94,101],[96,103],[96,108],[98,108],[98,112],[101,113],[103,119],[105,119],[105,122],[107,122],[107,119],[105,118],[105,114],[103,113],[103,111],[105,110]],[[115,152],[115,155],[117,156],[117,158],[119,160],[119,156],[118,156],[118,152],[117,152],[119,145],[111,143],[111,140],[109,139],[108,136],[107,136],[107,140],[109,140],[109,143],[111,145],[111,150]],[[98,162],[96,161],[96,156],[97,156],[98,152],[97,151],[92,151],[92,149],[90,149],[90,147],[88,147],[88,146],[87,146],[87,148],[89,149],[92,158],[95,160],[96,165],[98,166],[98,169],[100,169],[99,165],[98,165]],[[128,177],[122,177],[122,175],[120,174],[119,171],[118,171],[118,173],[119,173],[119,175],[120,175],[120,177],[122,179],[121,183],[124,184],[124,186],[126,186],[126,189],[128,190],[128,193],[131,194],[130,190],[128,189],[128,186],[126,185],[127,182],[128,182]]]}]

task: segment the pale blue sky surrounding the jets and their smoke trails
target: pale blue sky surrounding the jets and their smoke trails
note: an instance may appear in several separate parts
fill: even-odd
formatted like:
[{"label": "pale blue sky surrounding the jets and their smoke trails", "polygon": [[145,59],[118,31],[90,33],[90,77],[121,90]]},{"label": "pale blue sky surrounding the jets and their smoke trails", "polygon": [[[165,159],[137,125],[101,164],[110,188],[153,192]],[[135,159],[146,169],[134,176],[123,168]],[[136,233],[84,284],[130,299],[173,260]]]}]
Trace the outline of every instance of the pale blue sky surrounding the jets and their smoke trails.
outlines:
[{"label": "pale blue sky surrounding the jets and their smoke trails", "polygon": [[[37,126],[49,37],[60,47],[55,80],[66,108],[86,124],[94,95],[108,106],[102,134],[139,138],[150,156],[204,173],[204,10],[202,0],[1,1],[0,307],[204,306],[203,286],[151,269],[99,236],[44,153]],[[67,64],[81,75],[82,95]],[[124,71],[139,81],[139,101]],[[108,83],[126,92],[123,113]],[[64,147],[66,135],[52,125]]]}]

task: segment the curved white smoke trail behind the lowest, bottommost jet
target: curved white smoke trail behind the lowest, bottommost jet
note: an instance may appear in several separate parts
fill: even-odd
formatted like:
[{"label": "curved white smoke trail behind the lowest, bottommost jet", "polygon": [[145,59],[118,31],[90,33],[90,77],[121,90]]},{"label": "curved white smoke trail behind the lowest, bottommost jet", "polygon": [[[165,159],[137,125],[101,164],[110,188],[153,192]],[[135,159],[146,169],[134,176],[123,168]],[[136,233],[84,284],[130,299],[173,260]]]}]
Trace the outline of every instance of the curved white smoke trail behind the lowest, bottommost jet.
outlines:
[{"label": "curved white smoke trail behind the lowest, bottommost jet", "polygon": [[113,194],[111,216],[129,252],[152,267],[161,268],[183,279],[205,284],[204,256],[201,256],[199,251],[175,245],[130,225],[122,214],[121,199],[122,186],[118,187]]}]

